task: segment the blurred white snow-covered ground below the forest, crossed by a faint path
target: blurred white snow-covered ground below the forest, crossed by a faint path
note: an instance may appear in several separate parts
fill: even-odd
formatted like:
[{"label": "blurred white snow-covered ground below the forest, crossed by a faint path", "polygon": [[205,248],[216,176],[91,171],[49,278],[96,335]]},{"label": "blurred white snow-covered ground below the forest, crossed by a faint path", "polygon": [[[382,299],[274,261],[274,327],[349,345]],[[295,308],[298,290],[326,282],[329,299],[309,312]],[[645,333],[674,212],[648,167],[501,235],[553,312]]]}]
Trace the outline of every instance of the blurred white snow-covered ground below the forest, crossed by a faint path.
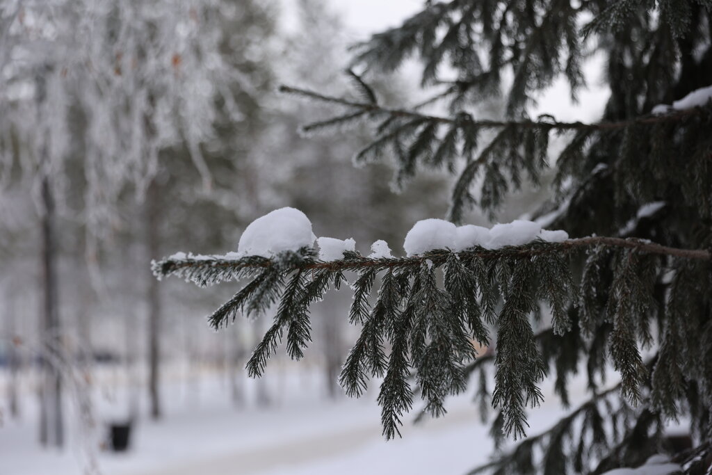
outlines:
[{"label": "blurred white snow-covered ground below the forest, crossed by a faint path", "polygon": [[[288,366],[281,374],[272,375],[271,390],[279,400],[268,408],[248,401],[236,409],[215,375],[191,386],[166,385],[164,420],[140,421],[126,454],[99,452],[100,473],[462,474],[486,461],[491,451],[488,428],[480,424],[470,395],[451,400],[443,419],[417,426],[407,422],[403,439],[384,442],[375,391],[362,400],[333,401],[323,396],[320,373]],[[34,399],[28,395],[24,401],[21,422],[5,420],[0,427],[0,474],[82,474],[76,440],[63,453],[38,448]],[[105,418],[112,409],[98,399]],[[548,400],[530,418],[532,433],[560,413],[555,398]]]}]

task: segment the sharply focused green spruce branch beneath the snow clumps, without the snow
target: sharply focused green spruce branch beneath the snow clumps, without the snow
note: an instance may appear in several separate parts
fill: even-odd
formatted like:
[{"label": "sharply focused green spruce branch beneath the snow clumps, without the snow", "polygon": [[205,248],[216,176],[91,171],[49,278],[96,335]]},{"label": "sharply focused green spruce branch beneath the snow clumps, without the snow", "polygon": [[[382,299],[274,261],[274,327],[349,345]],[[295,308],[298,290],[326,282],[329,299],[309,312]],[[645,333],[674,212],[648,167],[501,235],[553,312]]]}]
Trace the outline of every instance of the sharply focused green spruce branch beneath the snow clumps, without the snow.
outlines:
[{"label": "sharply focused green spruce branch beneath the snow clumps, without the snow", "polygon": [[[591,347],[594,358],[600,359],[605,342],[612,340],[609,348],[622,372],[624,392],[637,400],[641,396],[639,386],[648,374],[640,362],[637,344],[646,344],[651,336],[647,317],[636,315],[648,313],[650,308],[647,294],[661,272],[654,263],[659,256],[669,256],[703,263],[698,266],[703,268],[712,257],[708,250],[592,236],[561,243],[536,240],[501,249],[438,249],[420,256],[382,259],[352,252],[344,259],[318,261],[309,248],[285,251],[270,259],[183,255],[154,262],[153,270],[159,277],[177,275],[199,285],[251,278],[211,315],[216,328],[235,318],[238,311],[259,313],[278,301],[273,325],[247,364],[251,376],[262,374],[285,334],[288,355],[294,359],[303,356],[310,342],[311,303],[331,286],[339,285],[345,272],[355,271],[350,321],[362,329],[342,368],[340,383],[347,395],[358,397],[370,377],[384,377],[378,398],[384,436],[399,434],[402,415],[412,407],[413,392],[407,380],[411,369],[426,412],[437,417],[445,413],[445,398],[464,390],[471,372],[477,367],[483,370],[483,363],[493,360],[496,385],[492,404],[501,409],[497,427],[518,438],[525,437],[525,407],[534,407],[543,399],[538,384],[552,363],[557,371],[556,390],[567,402],[567,374],[575,372],[577,356],[571,358],[578,354],[577,348],[582,348],[581,340],[577,335],[573,340],[565,338],[574,346],[561,345],[560,350],[546,348],[550,341],[547,345],[541,342],[553,338],[553,333],[568,335],[578,326],[577,315],[571,313],[578,291],[565,256],[590,248],[611,249],[614,256],[622,256],[618,261],[624,265],[617,266],[617,289],[609,292],[612,297],[608,306],[613,310],[608,314],[614,320],[610,338],[609,330],[601,331],[609,325],[606,321],[589,321],[582,330],[590,327],[595,333]],[[592,277],[587,279],[584,281],[597,282]],[[372,303],[377,283],[377,298]],[[548,301],[553,308],[553,328],[535,335],[531,319],[536,318],[540,301]],[[487,325],[498,328],[497,350],[476,360],[473,342],[490,343]],[[602,340],[598,339],[600,334]],[[481,390],[484,400],[489,393]]]}]

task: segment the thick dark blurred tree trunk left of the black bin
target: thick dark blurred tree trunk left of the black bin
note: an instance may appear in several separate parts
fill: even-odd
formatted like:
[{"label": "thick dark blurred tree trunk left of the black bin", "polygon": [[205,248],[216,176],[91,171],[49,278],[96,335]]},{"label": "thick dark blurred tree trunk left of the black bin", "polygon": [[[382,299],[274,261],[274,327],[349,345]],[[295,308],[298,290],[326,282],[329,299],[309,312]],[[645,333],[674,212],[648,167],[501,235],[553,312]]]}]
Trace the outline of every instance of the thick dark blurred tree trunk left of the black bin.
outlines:
[{"label": "thick dark blurred tree trunk left of the black bin", "polygon": [[[61,357],[61,334],[56,274],[56,236],[54,229],[54,201],[49,180],[42,180],[42,291],[43,306],[40,335],[43,340],[40,365],[41,417],[40,442],[61,447],[64,443],[62,417],[62,378],[58,359]],[[54,358],[51,358],[54,355]]]}]

